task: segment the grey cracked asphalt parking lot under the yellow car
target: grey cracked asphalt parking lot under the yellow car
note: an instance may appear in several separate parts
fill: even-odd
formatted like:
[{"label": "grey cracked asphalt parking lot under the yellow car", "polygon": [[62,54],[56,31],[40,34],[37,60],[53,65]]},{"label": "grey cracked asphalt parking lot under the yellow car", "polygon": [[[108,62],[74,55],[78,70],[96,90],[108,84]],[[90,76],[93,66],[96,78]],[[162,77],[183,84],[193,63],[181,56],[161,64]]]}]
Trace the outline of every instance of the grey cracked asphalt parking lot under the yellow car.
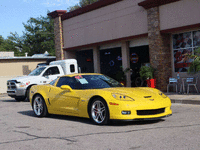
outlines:
[{"label": "grey cracked asphalt parking lot under the yellow car", "polygon": [[2,150],[188,150],[200,147],[200,105],[172,104],[159,121],[94,125],[89,119],[34,116],[29,102],[0,97]]}]

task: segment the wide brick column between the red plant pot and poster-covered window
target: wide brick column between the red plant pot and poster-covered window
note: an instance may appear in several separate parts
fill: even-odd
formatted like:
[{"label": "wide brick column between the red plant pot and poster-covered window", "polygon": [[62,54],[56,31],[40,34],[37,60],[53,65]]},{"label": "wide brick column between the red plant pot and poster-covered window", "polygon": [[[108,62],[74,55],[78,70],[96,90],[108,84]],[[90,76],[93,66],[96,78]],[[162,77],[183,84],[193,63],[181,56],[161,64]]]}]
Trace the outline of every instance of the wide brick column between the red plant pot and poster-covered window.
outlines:
[{"label": "wide brick column between the red plant pot and poster-covered window", "polygon": [[170,35],[160,32],[158,7],[147,9],[147,19],[150,63],[156,68],[156,87],[166,91],[168,78],[172,76]]}]

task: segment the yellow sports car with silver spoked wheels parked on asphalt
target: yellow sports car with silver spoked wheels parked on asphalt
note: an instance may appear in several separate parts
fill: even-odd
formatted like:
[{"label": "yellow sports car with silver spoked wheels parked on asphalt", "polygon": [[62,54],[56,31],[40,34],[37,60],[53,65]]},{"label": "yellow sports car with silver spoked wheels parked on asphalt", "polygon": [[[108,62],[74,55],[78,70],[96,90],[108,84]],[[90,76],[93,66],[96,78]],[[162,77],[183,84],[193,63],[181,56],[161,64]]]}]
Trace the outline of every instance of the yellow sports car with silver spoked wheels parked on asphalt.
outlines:
[{"label": "yellow sports car with silver spoked wheels parked on asphalt", "polygon": [[157,89],[124,87],[97,73],[62,76],[30,90],[36,116],[48,114],[91,118],[99,125],[109,120],[159,119],[172,114],[170,99]]}]

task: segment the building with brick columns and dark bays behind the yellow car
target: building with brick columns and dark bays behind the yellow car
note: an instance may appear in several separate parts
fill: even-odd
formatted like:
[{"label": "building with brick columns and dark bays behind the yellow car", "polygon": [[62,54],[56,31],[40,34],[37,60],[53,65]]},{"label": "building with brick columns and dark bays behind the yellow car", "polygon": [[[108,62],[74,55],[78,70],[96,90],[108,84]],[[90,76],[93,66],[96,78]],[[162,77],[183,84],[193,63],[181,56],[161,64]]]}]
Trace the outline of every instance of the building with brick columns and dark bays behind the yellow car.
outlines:
[{"label": "building with brick columns and dark bays behind the yellow car", "polygon": [[185,54],[200,46],[199,8],[200,0],[100,0],[48,15],[55,20],[57,59],[75,58],[82,72],[110,76],[131,68],[128,86],[150,63],[157,88],[166,91],[169,77],[188,76]]}]

